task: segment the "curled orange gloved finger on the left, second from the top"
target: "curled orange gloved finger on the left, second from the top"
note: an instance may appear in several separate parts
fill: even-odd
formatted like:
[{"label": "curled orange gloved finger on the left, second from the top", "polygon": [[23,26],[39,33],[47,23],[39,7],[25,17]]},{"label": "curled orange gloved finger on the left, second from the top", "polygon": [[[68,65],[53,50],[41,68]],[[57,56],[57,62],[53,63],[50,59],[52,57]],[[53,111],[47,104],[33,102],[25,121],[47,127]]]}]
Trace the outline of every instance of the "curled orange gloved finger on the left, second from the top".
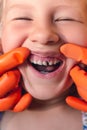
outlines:
[{"label": "curled orange gloved finger on the left, second from the top", "polygon": [[8,71],[0,77],[0,98],[18,87],[20,72],[18,70]]}]

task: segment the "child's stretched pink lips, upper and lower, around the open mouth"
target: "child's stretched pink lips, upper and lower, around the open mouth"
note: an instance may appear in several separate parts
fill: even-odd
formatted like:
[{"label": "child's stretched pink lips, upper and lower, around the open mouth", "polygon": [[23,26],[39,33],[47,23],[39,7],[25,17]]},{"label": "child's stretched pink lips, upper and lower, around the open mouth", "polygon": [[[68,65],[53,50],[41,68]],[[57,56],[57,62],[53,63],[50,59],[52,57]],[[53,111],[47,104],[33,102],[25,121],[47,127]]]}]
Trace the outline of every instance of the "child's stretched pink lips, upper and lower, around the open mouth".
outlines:
[{"label": "child's stretched pink lips, upper and lower, around the open mouth", "polygon": [[62,54],[58,54],[55,52],[49,52],[49,53],[35,53],[35,52],[31,52],[31,54],[33,55],[38,55],[40,57],[46,58],[46,57],[57,57],[58,59],[62,60],[63,63],[62,65],[55,71],[47,73],[47,74],[42,74],[39,71],[37,71],[36,69],[34,69],[34,67],[31,65],[29,59],[27,60],[27,64],[29,65],[29,69],[32,71],[32,73],[34,75],[36,75],[37,77],[43,78],[43,79],[51,79],[56,77],[58,74],[60,74],[60,72],[62,72],[64,66],[65,66],[65,58]]}]

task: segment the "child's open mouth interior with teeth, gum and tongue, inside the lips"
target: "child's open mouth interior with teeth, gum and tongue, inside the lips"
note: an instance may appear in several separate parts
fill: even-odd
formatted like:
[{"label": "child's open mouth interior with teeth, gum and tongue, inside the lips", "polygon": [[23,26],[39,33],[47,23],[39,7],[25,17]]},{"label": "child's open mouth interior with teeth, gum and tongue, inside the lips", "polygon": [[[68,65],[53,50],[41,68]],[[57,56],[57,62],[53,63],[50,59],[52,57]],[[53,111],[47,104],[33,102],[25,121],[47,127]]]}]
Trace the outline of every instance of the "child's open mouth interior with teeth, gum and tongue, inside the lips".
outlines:
[{"label": "child's open mouth interior with teeth, gum and tongue, inside the lips", "polygon": [[62,60],[54,57],[34,58],[30,57],[32,67],[42,74],[48,74],[56,71],[63,63]]}]

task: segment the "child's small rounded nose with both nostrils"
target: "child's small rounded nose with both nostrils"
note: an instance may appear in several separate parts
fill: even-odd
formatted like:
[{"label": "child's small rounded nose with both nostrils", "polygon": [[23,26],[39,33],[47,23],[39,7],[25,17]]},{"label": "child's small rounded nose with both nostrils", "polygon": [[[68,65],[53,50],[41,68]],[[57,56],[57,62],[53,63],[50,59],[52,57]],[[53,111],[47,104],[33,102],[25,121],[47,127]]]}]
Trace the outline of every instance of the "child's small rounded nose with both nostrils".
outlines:
[{"label": "child's small rounded nose with both nostrils", "polygon": [[50,26],[38,26],[32,29],[29,39],[33,43],[56,44],[59,40],[58,34]]}]

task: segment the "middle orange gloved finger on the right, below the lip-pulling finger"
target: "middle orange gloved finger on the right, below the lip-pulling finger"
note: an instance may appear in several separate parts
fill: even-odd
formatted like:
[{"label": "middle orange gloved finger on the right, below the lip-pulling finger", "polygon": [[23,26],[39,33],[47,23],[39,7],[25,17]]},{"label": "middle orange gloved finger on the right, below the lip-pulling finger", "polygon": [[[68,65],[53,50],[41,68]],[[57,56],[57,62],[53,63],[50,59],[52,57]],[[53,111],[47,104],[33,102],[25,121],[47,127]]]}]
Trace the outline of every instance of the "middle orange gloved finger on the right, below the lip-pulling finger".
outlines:
[{"label": "middle orange gloved finger on the right, below the lip-pulling finger", "polygon": [[79,95],[87,101],[87,72],[79,66],[75,66],[71,69],[70,76],[76,84]]}]

